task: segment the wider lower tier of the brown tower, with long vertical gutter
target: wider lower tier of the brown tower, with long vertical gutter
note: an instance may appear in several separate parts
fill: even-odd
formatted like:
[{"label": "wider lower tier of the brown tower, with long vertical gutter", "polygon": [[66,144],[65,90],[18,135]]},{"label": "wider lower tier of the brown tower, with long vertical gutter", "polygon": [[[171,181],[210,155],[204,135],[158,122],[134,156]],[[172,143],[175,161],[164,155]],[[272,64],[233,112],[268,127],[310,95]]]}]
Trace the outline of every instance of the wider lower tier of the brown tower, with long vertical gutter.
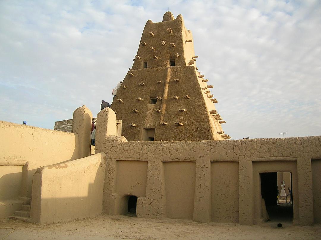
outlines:
[{"label": "wider lower tier of the brown tower, with long vertical gutter", "polygon": [[115,99],[111,106],[123,120],[122,134],[127,140],[143,140],[143,131],[149,128],[155,128],[154,140],[222,139],[217,133],[222,131],[221,124],[209,112],[214,104],[210,101],[213,107],[207,108],[208,98],[200,85],[204,83],[194,67],[145,68],[131,73],[134,76],[127,75],[122,83],[126,88],[117,92],[116,99],[121,101]]}]

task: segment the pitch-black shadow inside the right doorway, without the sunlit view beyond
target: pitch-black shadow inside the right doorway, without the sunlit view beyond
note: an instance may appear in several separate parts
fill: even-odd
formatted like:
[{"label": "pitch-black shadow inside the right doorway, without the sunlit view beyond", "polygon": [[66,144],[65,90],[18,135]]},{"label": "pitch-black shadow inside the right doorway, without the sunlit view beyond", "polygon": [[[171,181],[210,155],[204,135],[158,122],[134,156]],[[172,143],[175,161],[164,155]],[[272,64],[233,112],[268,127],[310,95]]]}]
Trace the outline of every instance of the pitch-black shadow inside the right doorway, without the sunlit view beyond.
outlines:
[{"label": "pitch-black shadow inside the right doorway, without the sunlit view beyond", "polygon": [[269,219],[272,222],[292,223],[293,201],[291,201],[290,204],[278,203],[278,198],[280,197],[281,192],[281,186],[278,186],[278,172],[260,173],[260,178],[261,194],[262,198],[264,198],[265,200],[266,211],[268,213]]}]

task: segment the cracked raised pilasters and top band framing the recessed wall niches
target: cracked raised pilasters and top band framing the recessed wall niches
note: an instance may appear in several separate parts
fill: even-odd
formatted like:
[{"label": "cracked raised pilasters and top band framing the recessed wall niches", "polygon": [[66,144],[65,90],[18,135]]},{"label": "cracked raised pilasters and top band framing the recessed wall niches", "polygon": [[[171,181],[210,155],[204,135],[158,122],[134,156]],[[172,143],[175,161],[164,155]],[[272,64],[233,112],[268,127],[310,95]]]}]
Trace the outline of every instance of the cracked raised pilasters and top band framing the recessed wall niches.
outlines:
[{"label": "cracked raised pilasters and top band framing the recessed wall niches", "polygon": [[[105,108],[98,114],[97,125],[114,126],[114,121],[116,121],[116,115],[110,108]],[[260,224],[259,219],[254,221],[254,216],[261,216],[260,210],[255,207],[255,199],[261,198],[259,185],[254,183],[254,177],[259,174],[255,170],[256,166],[267,172],[282,171],[293,174],[296,171],[297,180],[293,177],[292,182],[298,210],[294,223],[301,225],[313,223],[311,158],[319,159],[321,156],[321,136],[222,141],[127,142],[125,137],[113,136],[110,134],[112,132],[112,129],[101,127],[96,136],[96,151],[105,152],[107,156],[103,198],[103,212],[107,214],[117,214],[118,203],[121,201],[115,196],[114,190],[117,174],[116,161],[148,162],[146,196],[137,199],[137,215],[156,219],[167,217],[167,207],[169,207],[166,204],[168,183],[165,184],[167,173],[164,163],[177,162],[184,165],[184,162],[196,162],[193,220],[212,221],[212,214],[208,215],[208,213],[218,210],[211,208],[223,203],[211,204],[210,162],[235,161],[239,166],[239,223]],[[290,166],[282,167],[283,165],[280,164],[282,162]],[[190,177],[194,178],[194,176]],[[179,203],[176,207],[179,207]],[[190,212],[191,209],[185,211]],[[233,216],[229,210],[226,210],[226,215]],[[263,218],[261,222],[262,220]],[[235,217],[231,217],[229,221],[235,221]]]}]

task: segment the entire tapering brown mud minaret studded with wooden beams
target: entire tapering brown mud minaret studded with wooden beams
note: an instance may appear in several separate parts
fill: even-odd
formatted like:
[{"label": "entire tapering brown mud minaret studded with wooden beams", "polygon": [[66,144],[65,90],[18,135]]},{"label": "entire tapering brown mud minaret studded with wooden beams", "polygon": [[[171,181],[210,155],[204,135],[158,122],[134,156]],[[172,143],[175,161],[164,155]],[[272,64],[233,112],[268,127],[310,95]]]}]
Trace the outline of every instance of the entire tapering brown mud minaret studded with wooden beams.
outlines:
[{"label": "entire tapering brown mud minaret studded with wooden beams", "polygon": [[197,58],[182,15],[174,19],[166,12],[162,22],[147,21],[133,67],[111,105],[128,141],[230,138]]}]

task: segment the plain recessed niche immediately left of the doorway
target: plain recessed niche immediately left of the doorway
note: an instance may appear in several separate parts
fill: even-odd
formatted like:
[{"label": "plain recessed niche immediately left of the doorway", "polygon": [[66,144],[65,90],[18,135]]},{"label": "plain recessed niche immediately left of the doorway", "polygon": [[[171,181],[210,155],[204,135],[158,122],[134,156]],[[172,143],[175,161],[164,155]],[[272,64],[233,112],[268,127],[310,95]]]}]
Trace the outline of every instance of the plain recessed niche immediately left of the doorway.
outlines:
[{"label": "plain recessed niche immediately left of the doorway", "polygon": [[212,221],[239,222],[239,163],[212,162]]}]

